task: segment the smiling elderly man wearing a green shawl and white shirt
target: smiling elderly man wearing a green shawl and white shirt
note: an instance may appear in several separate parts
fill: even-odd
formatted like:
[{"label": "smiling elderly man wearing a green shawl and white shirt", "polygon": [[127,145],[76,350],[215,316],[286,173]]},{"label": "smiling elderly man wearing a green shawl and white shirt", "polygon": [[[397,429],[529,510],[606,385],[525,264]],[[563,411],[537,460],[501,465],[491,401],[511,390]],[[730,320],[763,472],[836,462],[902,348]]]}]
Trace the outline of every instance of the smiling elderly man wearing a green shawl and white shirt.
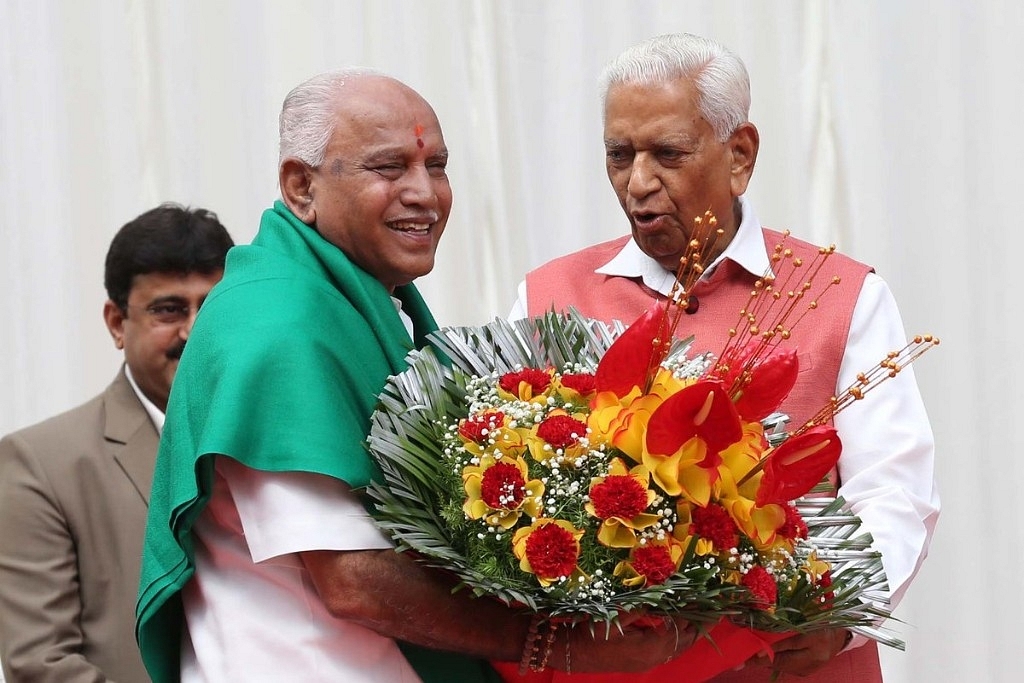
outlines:
[{"label": "smiling elderly man wearing a green shawl and white shirt", "polygon": [[[453,594],[360,496],[377,395],[435,329],[411,283],[451,210],[446,163],[431,106],[382,74],[286,98],[283,201],[229,253],[168,405],[137,606],[156,683],[471,683],[536,655],[528,614]],[[675,631],[562,630],[550,666],[647,669],[689,643]]]}]

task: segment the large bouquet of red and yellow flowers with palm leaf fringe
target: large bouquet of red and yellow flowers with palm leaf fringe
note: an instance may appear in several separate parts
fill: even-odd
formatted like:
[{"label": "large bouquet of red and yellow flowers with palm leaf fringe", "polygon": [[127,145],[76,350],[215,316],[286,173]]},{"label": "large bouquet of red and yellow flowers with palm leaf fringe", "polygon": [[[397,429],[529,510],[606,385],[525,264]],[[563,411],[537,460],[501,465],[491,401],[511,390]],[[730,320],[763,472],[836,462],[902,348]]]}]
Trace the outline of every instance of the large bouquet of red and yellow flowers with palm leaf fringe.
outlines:
[{"label": "large bouquet of red and yellow flowers with palm leaf fringe", "polygon": [[[915,339],[786,431],[788,335],[751,325],[718,355],[675,338],[695,270],[625,330],[570,309],[435,333],[446,357],[414,351],[372,421],[378,523],[474,594],[550,620],[703,625],[673,680],[821,628],[902,648],[880,627],[881,556],[819,484],[841,453],[835,413],[938,340]],[[770,294],[767,282],[757,295]]]}]

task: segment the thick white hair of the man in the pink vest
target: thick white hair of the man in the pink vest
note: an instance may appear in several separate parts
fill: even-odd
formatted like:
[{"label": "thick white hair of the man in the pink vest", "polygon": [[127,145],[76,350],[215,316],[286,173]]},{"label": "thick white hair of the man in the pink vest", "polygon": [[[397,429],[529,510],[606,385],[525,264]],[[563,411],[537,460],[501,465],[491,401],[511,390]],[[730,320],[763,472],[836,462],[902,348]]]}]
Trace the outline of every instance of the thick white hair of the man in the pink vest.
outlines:
[{"label": "thick white hair of the man in the pink vest", "polygon": [[601,109],[608,89],[689,79],[697,90],[700,115],[725,141],[751,110],[751,81],[742,60],[723,45],[688,33],[656,36],[628,48],[604,68],[599,80]]}]

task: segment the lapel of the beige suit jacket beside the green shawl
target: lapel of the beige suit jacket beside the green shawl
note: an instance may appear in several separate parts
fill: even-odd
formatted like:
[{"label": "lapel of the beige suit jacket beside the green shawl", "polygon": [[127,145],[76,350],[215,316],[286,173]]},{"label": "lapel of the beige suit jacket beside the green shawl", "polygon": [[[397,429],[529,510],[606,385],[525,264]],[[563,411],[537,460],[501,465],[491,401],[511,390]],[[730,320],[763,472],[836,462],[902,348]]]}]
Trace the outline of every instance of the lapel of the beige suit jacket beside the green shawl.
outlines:
[{"label": "lapel of the beige suit jacket beside the green shawl", "polygon": [[153,466],[160,436],[145,409],[128,383],[124,367],[103,392],[105,423],[103,437],[114,460],[146,505],[153,485]]}]

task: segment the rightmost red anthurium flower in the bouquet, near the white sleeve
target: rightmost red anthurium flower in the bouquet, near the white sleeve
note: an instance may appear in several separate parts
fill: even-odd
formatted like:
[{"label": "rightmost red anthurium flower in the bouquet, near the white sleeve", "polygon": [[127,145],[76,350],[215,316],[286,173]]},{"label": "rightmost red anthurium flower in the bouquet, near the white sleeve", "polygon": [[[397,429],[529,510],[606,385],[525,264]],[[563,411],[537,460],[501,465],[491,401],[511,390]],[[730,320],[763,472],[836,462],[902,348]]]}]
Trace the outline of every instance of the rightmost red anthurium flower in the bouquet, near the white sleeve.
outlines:
[{"label": "rightmost red anthurium flower in the bouquet, near the white sleeve", "polygon": [[836,467],[842,451],[839,434],[825,425],[791,436],[765,459],[757,505],[800,498]]}]

